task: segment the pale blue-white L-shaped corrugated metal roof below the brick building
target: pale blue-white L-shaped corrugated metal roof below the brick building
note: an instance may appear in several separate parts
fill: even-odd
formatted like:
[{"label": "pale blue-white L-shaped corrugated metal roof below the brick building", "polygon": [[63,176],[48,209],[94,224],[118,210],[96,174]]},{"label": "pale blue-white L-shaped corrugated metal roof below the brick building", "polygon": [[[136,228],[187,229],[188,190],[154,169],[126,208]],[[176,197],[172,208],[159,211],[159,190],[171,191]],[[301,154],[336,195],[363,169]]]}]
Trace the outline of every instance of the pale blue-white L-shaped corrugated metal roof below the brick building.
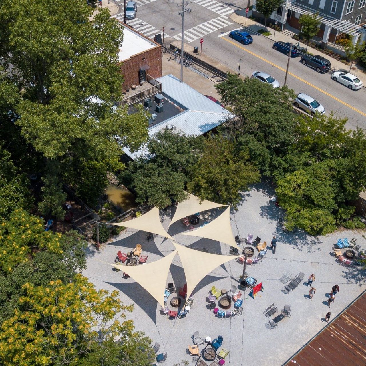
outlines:
[{"label": "pale blue-white L-shaped corrugated metal roof below the brick building", "polygon": [[[186,135],[199,136],[219,126],[228,118],[233,117],[227,109],[187,84],[181,83],[173,75],[163,76],[158,78],[157,81],[161,83],[162,92],[168,99],[178,102],[187,110],[151,127],[149,129],[150,136],[163,130],[167,125],[174,126],[174,131],[182,131]],[[124,152],[132,159],[144,151],[146,151],[146,146],[143,146],[135,153],[131,153],[127,148],[124,149]]]}]

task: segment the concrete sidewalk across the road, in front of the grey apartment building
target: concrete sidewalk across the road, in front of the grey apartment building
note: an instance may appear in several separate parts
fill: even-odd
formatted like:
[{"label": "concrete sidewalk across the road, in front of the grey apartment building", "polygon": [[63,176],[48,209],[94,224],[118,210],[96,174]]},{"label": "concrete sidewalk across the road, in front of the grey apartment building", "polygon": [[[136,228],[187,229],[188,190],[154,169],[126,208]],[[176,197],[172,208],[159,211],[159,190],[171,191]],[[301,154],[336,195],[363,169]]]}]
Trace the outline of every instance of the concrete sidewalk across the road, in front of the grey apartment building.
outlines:
[{"label": "concrete sidewalk across the road, in front of the grey apartment building", "polygon": [[[239,14],[235,14],[235,13],[231,15],[230,18],[233,22],[236,22],[242,26],[245,26],[249,30],[255,31],[255,32],[258,32],[259,29],[264,28],[264,25],[257,23],[254,20],[249,19],[249,18],[247,19],[246,24],[245,24],[245,10],[240,10],[239,13],[243,13],[244,15],[239,15]],[[282,32],[276,31],[276,36],[274,36],[275,31],[273,29],[267,28],[267,30],[272,33],[270,36],[268,36],[268,38],[270,38],[270,40],[273,40],[276,42],[278,42],[278,41],[290,42],[290,43],[292,42],[294,44],[297,44],[297,41],[288,35],[290,32],[286,32],[285,29]],[[266,37],[266,36],[264,36],[264,37]],[[300,47],[306,48],[306,44],[300,42]],[[338,60],[335,60],[328,55],[324,55],[324,53],[318,51],[315,48],[311,48],[309,46],[307,48],[307,51],[313,53],[313,55],[320,55],[320,56],[330,59],[330,62],[332,63],[332,68],[330,69],[330,71],[336,71],[336,70],[348,71],[350,69],[350,67],[347,66],[346,64],[344,64]],[[355,68],[355,70],[354,70],[354,68]],[[352,65],[351,74],[356,75],[363,82],[363,87],[366,87],[366,74],[364,72],[362,72],[361,70],[359,70],[355,64]]]}]

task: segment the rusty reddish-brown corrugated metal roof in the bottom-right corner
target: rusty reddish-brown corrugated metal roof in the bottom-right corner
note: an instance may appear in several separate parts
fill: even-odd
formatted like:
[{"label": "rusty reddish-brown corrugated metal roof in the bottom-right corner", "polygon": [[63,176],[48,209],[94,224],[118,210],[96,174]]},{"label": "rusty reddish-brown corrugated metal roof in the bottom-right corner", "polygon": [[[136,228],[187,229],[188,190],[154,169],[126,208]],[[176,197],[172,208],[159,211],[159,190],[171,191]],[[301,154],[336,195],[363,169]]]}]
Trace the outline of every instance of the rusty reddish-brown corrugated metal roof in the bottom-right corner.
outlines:
[{"label": "rusty reddish-brown corrugated metal roof in the bottom-right corner", "polygon": [[[295,363],[296,361],[296,363]],[[366,291],[284,366],[365,366]]]}]

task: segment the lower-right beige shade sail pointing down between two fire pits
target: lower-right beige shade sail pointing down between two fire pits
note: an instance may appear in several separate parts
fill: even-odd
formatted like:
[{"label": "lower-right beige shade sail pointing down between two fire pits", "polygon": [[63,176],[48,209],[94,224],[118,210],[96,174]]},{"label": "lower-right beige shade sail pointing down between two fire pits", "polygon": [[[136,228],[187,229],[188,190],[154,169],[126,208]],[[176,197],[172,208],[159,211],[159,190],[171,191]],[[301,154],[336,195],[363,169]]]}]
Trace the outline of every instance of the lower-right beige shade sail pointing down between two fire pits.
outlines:
[{"label": "lower-right beige shade sail pointing down between two fire pits", "polygon": [[178,251],[180,261],[182,262],[184,275],[186,276],[187,281],[188,295],[193,292],[199,281],[201,281],[203,277],[207,276],[216,267],[239,257],[239,255],[234,256],[204,253],[176,243],[173,244]]}]

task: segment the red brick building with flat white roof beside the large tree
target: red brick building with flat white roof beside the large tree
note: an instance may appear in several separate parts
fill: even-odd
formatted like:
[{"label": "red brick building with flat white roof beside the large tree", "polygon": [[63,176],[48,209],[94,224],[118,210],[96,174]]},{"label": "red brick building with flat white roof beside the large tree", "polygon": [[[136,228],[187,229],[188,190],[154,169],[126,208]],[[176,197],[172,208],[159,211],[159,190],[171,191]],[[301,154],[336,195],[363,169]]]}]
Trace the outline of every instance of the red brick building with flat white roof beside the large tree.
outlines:
[{"label": "red brick building with flat white roof beside the large tree", "polygon": [[123,24],[123,42],[119,61],[123,74],[123,89],[129,90],[147,81],[161,77],[161,45]]}]

